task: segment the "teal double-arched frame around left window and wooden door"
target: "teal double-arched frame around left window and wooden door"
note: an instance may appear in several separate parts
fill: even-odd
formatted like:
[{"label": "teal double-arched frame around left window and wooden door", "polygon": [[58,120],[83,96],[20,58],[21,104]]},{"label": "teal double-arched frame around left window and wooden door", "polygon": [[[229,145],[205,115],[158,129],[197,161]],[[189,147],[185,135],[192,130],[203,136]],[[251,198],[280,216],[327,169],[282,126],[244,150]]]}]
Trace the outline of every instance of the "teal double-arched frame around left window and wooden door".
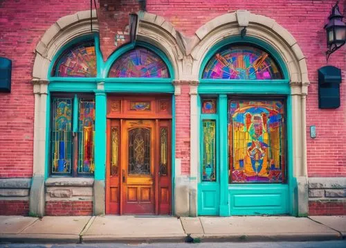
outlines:
[{"label": "teal double-arched frame around left window and wooden door", "polygon": [[[97,75],[95,78],[64,78],[51,76],[53,67],[57,59],[71,46],[93,40],[95,42]],[[147,48],[156,53],[167,65],[170,73],[169,78],[108,78],[109,69],[118,58],[127,51],[136,47]],[[106,62],[104,62],[100,51],[100,39],[98,33],[84,35],[73,39],[69,44],[64,45],[54,55],[48,69],[48,96],[46,101],[46,161],[45,161],[45,179],[49,175],[49,141],[50,141],[50,116],[51,116],[51,93],[90,93],[95,95],[95,172],[94,179],[104,181],[106,179],[106,130],[107,130],[107,94],[171,94],[172,95],[172,211],[174,210],[174,171],[175,171],[175,98],[174,69],[172,62],[163,51],[152,44],[146,42],[132,42],[114,51]],[[77,95],[75,95],[75,101]],[[77,113],[77,112],[76,112]],[[75,118],[75,116],[74,116]],[[104,202],[105,204],[105,202]]]}]

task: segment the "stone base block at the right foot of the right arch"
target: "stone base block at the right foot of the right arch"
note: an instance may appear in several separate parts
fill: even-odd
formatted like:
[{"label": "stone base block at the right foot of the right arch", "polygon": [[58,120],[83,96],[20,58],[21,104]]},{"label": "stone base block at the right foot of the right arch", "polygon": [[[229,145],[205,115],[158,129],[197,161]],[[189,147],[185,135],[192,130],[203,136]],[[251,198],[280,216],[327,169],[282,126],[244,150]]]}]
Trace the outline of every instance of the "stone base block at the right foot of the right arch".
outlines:
[{"label": "stone base block at the right foot of the right arch", "polygon": [[297,177],[298,217],[306,217],[309,212],[309,188],[307,177]]}]

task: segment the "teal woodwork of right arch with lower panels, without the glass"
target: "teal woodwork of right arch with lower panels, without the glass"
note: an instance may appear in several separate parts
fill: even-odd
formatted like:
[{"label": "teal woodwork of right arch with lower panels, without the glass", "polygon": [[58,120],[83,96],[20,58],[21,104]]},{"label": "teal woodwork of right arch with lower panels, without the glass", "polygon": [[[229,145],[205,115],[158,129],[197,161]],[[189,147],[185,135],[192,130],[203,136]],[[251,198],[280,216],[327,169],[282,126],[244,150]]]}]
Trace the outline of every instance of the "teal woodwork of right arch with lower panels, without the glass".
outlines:
[{"label": "teal woodwork of right arch with lower panels, without the glass", "polygon": [[[211,80],[202,79],[203,69],[210,58],[219,48],[227,44],[248,44],[260,46],[275,59],[280,66],[283,80]],[[203,182],[201,180],[201,164],[199,165],[198,181],[198,215],[259,215],[259,214],[291,214],[295,215],[295,188],[296,180],[293,177],[293,149],[292,149],[292,107],[291,88],[289,85],[289,72],[282,57],[274,48],[255,37],[228,37],[208,51],[204,58],[199,74],[199,103],[198,111],[201,113],[202,98],[217,98],[217,114],[212,118],[217,120],[217,172],[220,177],[216,182]],[[286,183],[285,184],[229,184],[228,183],[228,97],[246,96],[264,97],[280,96],[286,100]],[[209,115],[211,116],[211,115]],[[208,114],[200,114],[200,127]],[[200,161],[203,161],[203,134],[200,130]],[[260,201],[268,206],[263,207]],[[236,202],[237,201],[237,202]],[[208,206],[208,207],[206,207]]]}]

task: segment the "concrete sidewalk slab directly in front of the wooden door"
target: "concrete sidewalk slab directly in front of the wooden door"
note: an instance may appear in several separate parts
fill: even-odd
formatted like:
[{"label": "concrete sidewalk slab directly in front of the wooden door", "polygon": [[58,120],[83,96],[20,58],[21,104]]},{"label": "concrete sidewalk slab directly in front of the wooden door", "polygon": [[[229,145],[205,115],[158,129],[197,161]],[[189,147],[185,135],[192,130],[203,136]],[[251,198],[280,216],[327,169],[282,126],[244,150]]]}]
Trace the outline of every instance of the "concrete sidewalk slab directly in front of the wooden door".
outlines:
[{"label": "concrete sidewalk slab directly in front of the wooden door", "polygon": [[181,222],[174,217],[98,216],[82,235],[83,242],[158,242],[183,238],[185,232]]}]

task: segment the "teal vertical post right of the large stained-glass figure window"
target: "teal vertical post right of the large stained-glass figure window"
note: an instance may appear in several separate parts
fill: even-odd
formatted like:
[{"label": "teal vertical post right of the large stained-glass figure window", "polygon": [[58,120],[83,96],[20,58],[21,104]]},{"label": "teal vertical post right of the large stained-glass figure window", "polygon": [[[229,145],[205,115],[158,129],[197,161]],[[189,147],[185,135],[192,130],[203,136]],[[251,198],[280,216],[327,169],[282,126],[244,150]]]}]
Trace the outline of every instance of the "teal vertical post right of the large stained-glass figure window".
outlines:
[{"label": "teal vertical post right of the large stained-glass figure window", "polygon": [[286,141],[287,141],[287,166],[286,179],[289,184],[289,213],[297,215],[298,206],[295,201],[295,188],[297,180],[293,177],[293,125],[292,125],[292,96],[289,95],[286,100]]}]

